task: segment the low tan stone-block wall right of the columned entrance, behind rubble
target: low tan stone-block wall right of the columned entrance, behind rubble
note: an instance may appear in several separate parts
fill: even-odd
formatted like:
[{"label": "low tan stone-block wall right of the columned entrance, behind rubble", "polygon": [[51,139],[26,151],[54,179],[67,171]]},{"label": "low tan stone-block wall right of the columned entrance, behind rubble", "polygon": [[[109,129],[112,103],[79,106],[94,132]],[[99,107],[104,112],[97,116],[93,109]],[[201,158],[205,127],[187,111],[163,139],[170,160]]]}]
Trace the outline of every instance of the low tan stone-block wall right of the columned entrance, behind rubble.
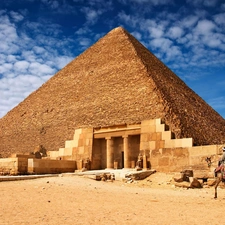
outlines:
[{"label": "low tan stone-block wall right of the columned entrance, behind rubble", "polygon": [[[151,167],[161,172],[180,172],[185,169],[192,169],[196,176],[213,176],[213,171],[217,167],[222,154],[221,148],[222,145],[206,145],[151,150]],[[206,162],[207,157],[212,160],[210,167]]]}]

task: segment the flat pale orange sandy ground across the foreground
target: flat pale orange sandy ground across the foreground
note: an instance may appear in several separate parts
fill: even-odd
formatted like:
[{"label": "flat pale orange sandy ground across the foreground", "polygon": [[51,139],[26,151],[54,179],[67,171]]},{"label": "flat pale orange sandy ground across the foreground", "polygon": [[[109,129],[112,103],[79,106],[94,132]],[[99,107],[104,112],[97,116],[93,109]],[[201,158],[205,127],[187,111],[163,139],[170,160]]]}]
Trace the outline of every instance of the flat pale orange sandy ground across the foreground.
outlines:
[{"label": "flat pale orange sandy ground across the foreground", "polygon": [[80,176],[0,182],[0,224],[215,225],[225,222],[225,189],[184,189],[156,173],[131,184]]}]

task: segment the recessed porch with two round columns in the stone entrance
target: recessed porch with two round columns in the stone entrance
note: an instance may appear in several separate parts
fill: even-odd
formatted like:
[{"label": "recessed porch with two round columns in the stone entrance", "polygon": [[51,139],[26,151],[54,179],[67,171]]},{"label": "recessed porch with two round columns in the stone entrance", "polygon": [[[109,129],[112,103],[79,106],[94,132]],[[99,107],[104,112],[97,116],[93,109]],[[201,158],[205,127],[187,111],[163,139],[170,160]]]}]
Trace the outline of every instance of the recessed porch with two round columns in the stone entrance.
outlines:
[{"label": "recessed porch with two round columns in the stone entrance", "polygon": [[94,129],[93,163],[99,168],[134,168],[140,151],[141,126]]}]

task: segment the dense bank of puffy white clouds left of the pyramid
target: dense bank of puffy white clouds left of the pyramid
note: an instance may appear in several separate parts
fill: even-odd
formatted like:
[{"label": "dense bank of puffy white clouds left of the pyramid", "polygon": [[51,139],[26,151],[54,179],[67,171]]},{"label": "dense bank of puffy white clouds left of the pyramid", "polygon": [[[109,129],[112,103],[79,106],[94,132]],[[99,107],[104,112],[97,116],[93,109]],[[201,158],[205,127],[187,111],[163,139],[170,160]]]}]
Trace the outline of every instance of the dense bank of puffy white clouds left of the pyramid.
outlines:
[{"label": "dense bank of puffy white clouds left of the pyramid", "polygon": [[[52,35],[47,35],[43,24],[27,22],[17,12],[1,11],[0,20],[1,117],[73,57],[60,54],[55,48],[70,45],[70,40],[62,41],[57,37],[61,32],[58,25],[47,25],[56,30]],[[23,29],[18,30],[17,23],[21,21],[24,21]],[[32,33],[35,36],[32,37]]]}]

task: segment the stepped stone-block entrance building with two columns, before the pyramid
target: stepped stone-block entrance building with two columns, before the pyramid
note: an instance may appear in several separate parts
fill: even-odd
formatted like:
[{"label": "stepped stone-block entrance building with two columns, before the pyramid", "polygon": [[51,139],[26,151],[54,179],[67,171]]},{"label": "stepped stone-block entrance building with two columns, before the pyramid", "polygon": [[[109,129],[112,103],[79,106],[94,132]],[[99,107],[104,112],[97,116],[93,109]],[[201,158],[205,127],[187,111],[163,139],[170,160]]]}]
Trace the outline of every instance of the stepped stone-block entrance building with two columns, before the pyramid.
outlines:
[{"label": "stepped stone-block entrance building with two columns, before the pyramid", "polygon": [[90,168],[95,170],[135,168],[141,155],[142,168],[150,169],[152,166],[172,167],[175,163],[171,163],[169,158],[161,158],[160,152],[179,149],[181,165],[188,166],[189,155],[185,153],[185,148],[193,146],[192,138],[174,139],[167,129],[161,119],[145,120],[134,125],[80,128],[75,130],[73,140],[65,142],[65,148],[50,151],[49,156],[51,159],[75,160],[78,169],[89,158]]}]

